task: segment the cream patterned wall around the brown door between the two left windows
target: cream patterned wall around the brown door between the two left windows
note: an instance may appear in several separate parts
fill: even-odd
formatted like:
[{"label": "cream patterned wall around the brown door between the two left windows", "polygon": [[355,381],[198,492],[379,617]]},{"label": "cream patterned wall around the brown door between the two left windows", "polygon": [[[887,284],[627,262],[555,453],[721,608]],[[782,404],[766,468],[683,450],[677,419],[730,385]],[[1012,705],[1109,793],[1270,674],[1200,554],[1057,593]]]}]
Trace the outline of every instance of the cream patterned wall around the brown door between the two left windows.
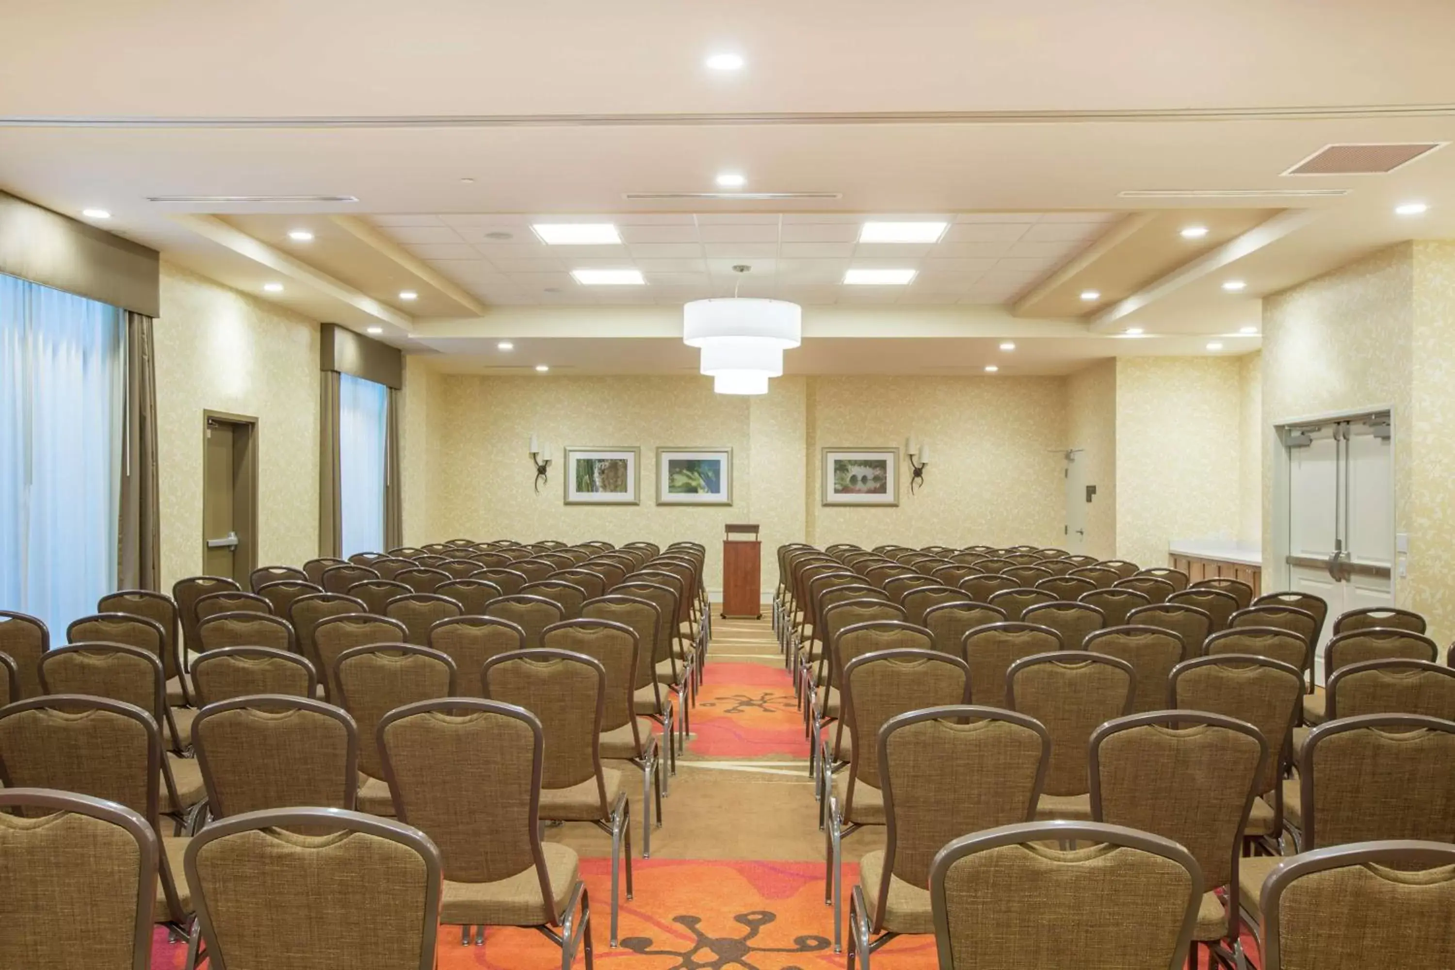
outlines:
[{"label": "cream patterned wall around the brown door between the two left windows", "polygon": [[202,412],[258,417],[258,563],[319,554],[319,324],[170,263],[156,323],[162,583],[202,567]]}]

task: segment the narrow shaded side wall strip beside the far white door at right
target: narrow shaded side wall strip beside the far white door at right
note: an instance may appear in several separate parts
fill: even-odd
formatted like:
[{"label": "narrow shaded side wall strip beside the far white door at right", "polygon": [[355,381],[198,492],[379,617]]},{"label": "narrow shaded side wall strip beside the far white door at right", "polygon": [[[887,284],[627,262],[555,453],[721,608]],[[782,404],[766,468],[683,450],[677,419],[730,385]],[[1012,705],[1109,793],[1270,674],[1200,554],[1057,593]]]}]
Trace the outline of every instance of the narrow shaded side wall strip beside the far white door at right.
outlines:
[{"label": "narrow shaded side wall strip beside the far white door at right", "polygon": [[1116,556],[1116,359],[1099,361],[1067,378],[1069,448],[1080,448],[1084,484],[1097,492],[1085,510],[1087,556]]}]

